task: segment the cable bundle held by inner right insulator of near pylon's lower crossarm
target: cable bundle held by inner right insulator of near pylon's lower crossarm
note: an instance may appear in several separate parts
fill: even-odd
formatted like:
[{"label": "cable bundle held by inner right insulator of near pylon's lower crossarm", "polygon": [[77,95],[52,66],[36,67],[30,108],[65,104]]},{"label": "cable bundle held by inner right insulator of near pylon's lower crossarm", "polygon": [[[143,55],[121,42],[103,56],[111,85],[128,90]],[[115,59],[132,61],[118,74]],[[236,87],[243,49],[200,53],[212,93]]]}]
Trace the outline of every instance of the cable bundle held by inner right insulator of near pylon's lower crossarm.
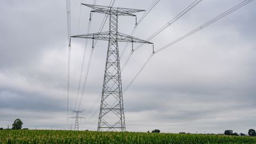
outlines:
[{"label": "cable bundle held by inner right insulator of near pylon's lower crossarm", "polygon": [[[199,4],[201,1],[203,0],[196,0],[194,1],[192,4],[190,4],[187,8],[185,8],[183,11],[180,12],[180,14],[178,14],[176,17],[172,18],[171,21],[169,21],[167,24],[165,24],[163,27],[161,27],[159,30],[157,30],[155,33],[153,33],[150,37],[148,37],[148,39],[146,39],[147,41],[153,39],[154,37],[156,37],[159,33],[161,33],[162,31],[164,31],[166,28],[168,28],[171,24],[173,24],[175,21],[177,21],[178,19],[180,19],[184,14],[186,14],[188,11],[190,11],[192,8],[196,7],[197,4]],[[132,50],[132,52],[130,52],[129,56],[126,58],[126,61],[124,62],[123,67],[121,68],[121,71],[123,71],[123,69],[126,67],[127,63],[130,60],[130,57],[132,56],[133,52],[135,52],[135,50],[139,49],[141,46],[143,46],[143,44],[140,44],[139,46],[137,46],[135,49]]]}]

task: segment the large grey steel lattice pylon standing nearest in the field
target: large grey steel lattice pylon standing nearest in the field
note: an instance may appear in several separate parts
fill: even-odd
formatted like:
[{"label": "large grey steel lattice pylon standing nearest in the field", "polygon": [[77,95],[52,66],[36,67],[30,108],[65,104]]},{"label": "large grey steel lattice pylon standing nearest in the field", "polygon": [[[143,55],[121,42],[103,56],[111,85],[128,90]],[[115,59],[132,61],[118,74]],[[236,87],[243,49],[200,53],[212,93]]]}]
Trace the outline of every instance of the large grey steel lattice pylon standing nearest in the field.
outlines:
[{"label": "large grey steel lattice pylon standing nearest in the field", "polygon": [[[105,63],[105,74],[103,82],[103,91],[101,96],[100,115],[98,119],[98,131],[125,131],[123,92],[121,87],[121,71],[119,61],[118,42],[130,43],[148,43],[149,41],[137,39],[127,34],[118,32],[118,17],[135,16],[133,13],[141,12],[140,9],[114,8],[100,5],[82,4],[92,8],[91,12],[98,12],[109,15],[109,31],[102,33],[82,34],[78,37],[83,39],[92,39],[92,48],[94,40],[107,40],[107,60]],[[91,17],[90,17],[91,20]],[[136,22],[137,23],[137,22]]]}]

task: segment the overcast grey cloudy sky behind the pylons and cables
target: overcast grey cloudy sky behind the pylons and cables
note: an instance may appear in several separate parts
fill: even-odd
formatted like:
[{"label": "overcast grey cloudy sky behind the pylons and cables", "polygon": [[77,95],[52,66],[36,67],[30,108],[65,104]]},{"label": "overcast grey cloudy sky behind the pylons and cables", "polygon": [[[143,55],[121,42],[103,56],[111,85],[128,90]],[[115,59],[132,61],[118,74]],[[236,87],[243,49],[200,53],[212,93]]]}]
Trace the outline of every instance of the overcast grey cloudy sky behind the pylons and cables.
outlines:
[{"label": "overcast grey cloudy sky behind the pylons and cables", "polygon": [[[80,0],[71,3],[71,33],[85,34],[89,11]],[[82,1],[92,4],[92,0]],[[150,1],[116,0],[114,7],[147,9]],[[194,0],[161,0],[138,25],[135,37],[147,39]],[[204,0],[151,40],[155,49],[183,36],[241,0]],[[97,5],[110,1],[98,0]],[[124,93],[126,130],[177,133],[247,133],[256,129],[256,3],[238,9],[196,34],[156,53]],[[81,10],[80,10],[81,9]],[[79,23],[79,13],[81,20]],[[29,129],[66,129],[68,69],[66,1],[0,1],[0,127],[17,118]],[[143,12],[138,13],[140,18]],[[92,17],[98,32],[103,14]],[[108,21],[107,21],[108,23]],[[130,34],[134,17],[120,17],[119,31]],[[108,30],[108,25],[104,31]],[[75,106],[85,40],[72,39],[71,97]],[[125,43],[120,43],[120,51]],[[137,45],[135,45],[137,46]],[[129,55],[129,44],[121,65]],[[85,68],[91,49],[87,46]],[[81,101],[81,129],[97,130],[107,41],[98,41]],[[122,73],[123,89],[151,55],[145,44]],[[82,82],[84,82],[85,72]],[[95,105],[95,106],[94,106]],[[94,107],[93,107],[94,106]],[[91,109],[91,111],[90,111]],[[69,113],[69,116],[73,116]],[[69,120],[69,124],[73,124]]]}]

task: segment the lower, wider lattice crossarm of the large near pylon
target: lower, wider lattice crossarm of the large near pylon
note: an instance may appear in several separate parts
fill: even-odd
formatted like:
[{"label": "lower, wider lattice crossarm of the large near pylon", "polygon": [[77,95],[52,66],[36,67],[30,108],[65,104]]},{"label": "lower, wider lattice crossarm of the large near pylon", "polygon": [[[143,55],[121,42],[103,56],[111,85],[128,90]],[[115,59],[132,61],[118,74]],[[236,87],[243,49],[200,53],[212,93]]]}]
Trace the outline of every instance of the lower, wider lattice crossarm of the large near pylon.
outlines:
[{"label": "lower, wider lattice crossarm of the large near pylon", "polygon": [[109,40],[110,37],[117,36],[117,41],[119,42],[128,42],[128,43],[148,43],[153,44],[149,41],[142,40],[136,37],[129,36],[127,34],[119,33],[110,34],[110,32],[102,32],[102,33],[91,33],[91,34],[81,34],[72,37],[81,38],[81,39],[95,39],[95,40]]}]

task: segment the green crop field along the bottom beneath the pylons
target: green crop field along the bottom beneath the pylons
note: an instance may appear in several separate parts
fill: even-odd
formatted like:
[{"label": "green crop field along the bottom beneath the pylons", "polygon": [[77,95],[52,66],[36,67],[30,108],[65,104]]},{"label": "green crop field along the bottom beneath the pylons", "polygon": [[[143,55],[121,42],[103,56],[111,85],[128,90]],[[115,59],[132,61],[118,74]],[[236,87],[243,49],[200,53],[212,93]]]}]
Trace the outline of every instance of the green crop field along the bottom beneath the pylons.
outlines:
[{"label": "green crop field along the bottom beneath the pylons", "polygon": [[256,138],[171,133],[1,130],[0,143],[256,143]]}]

